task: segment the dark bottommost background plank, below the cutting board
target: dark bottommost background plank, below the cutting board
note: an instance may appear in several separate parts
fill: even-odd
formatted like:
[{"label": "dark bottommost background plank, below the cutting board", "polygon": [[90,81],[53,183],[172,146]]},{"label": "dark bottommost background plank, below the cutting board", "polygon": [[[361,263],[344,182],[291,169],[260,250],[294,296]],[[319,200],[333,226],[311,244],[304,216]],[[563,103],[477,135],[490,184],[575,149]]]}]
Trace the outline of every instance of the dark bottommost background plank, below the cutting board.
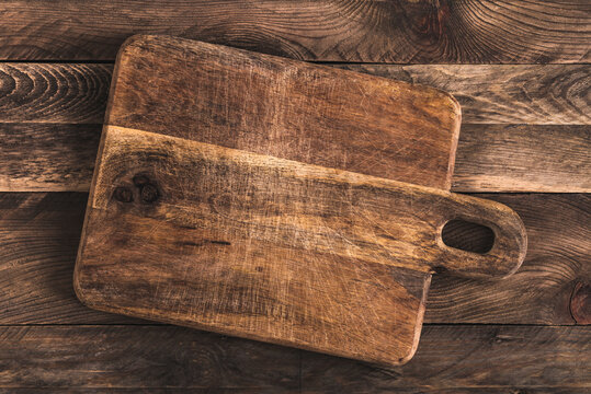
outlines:
[{"label": "dark bottommost background plank, below the cutting board", "polygon": [[4,326],[0,338],[5,390],[582,393],[591,384],[587,327],[427,326],[416,357],[391,370],[173,326]]}]

